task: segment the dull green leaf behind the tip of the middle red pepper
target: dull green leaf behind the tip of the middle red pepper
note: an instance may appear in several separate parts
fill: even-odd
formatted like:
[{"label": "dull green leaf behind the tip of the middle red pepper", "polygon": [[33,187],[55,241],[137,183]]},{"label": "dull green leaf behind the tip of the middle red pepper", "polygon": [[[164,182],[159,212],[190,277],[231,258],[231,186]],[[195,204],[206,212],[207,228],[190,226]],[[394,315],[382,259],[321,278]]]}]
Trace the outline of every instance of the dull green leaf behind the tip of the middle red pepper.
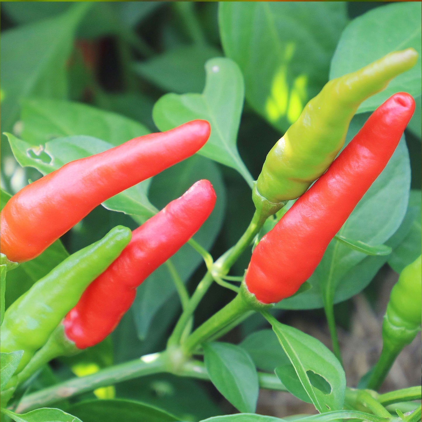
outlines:
[{"label": "dull green leaf behind the tip of the middle red pepper", "polygon": [[[213,212],[193,237],[201,246],[209,250],[222,226],[226,204],[225,186],[221,172],[214,162],[194,155],[168,168],[154,177],[150,198],[157,208],[163,208],[200,179],[211,181],[217,195]],[[170,262],[175,266],[181,279],[187,281],[200,263],[203,262],[203,259],[191,246],[184,245],[179,252],[170,258]],[[151,319],[175,291],[167,264],[157,268],[138,287],[132,309],[139,338],[144,338],[147,335]]]}]

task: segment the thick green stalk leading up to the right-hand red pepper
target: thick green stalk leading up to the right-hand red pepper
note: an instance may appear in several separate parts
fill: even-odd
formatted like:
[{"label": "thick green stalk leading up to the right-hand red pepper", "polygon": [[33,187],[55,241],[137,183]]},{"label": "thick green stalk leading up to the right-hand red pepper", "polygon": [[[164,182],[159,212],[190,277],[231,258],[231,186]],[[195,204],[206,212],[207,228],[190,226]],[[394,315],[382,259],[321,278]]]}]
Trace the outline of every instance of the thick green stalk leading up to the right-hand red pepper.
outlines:
[{"label": "thick green stalk leading up to the right-hand red pepper", "polygon": [[231,302],[220,309],[210,319],[198,327],[187,340],[182,344],[182,352],[186,356],[191,356],[197,346],[202,344],[212,335],[224,330],[234,320],[239,319],[247,312],[251,311],[249,303],[243,300],[241,295],[237,295]]}]

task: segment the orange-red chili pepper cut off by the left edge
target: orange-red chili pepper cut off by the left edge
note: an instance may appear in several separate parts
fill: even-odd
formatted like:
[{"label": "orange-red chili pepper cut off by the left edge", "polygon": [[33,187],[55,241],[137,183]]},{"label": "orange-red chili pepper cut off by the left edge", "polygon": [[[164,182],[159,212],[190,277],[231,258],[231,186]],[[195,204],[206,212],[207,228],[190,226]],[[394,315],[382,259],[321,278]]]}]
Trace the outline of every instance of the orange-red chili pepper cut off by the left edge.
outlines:
[{"label": "orange-red chili pepper cut off by the left edge", "polygon": [[8,260],[35,258],[96,206],[198,151],[210,125],[194,120],[65,164],[21,189],[0,215]]}]

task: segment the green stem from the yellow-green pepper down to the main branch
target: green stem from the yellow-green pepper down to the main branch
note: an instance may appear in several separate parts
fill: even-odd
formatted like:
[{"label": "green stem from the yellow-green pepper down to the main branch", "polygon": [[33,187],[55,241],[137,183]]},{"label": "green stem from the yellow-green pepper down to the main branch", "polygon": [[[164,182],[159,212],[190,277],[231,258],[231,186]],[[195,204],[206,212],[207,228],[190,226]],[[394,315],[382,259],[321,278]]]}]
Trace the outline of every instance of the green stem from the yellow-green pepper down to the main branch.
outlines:
[{"label": "green stem from the yellow-green pepper down to the main branch", "polygon": [[[264,222],[265,218],[255,212],[248,228],[246,229],[245,233],[243,233],[242,237],[238,240],[238,242],[235,244],[235,246],[229,249],[214,263],[213,269],[214,271],[216,271],[218,276],[225,275],[230,271],[231,266],[236,262],[238,257],[252,243],[254,237],[261,230],[261,227]],[[198,304],[208,291],[213,281],[214,279],[211,272],[207,271],[203,279],[198,284],[189,302],[187,303],[186,308],[184,308],[184,311],[182,312],[179,321],[177,322],[176,327],[173,330],[173,333],[168,339],[168,346],[176,346],[177,344],[179,344],[182,333],[184,332],[187,323],[189,322],[190,318],[195,312],[195,309],[197,308]]]}]

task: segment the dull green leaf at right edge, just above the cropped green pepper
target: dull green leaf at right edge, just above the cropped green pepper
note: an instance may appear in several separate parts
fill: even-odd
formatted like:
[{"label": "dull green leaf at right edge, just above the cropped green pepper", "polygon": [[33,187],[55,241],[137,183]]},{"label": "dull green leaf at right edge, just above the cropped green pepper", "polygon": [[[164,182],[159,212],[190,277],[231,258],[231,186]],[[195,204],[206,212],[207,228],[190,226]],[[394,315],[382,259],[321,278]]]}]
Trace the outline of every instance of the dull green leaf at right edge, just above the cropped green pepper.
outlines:
[{"label": "dull green leaf at right edge, just above the cropped green pepper", "polygon": [[414,220],[403,239],[392,252],[388,265],[396,272],[401,273],[404,267],[413,262],[421,254],[421,191],[411,190],[409,210],[414,210]]}]

